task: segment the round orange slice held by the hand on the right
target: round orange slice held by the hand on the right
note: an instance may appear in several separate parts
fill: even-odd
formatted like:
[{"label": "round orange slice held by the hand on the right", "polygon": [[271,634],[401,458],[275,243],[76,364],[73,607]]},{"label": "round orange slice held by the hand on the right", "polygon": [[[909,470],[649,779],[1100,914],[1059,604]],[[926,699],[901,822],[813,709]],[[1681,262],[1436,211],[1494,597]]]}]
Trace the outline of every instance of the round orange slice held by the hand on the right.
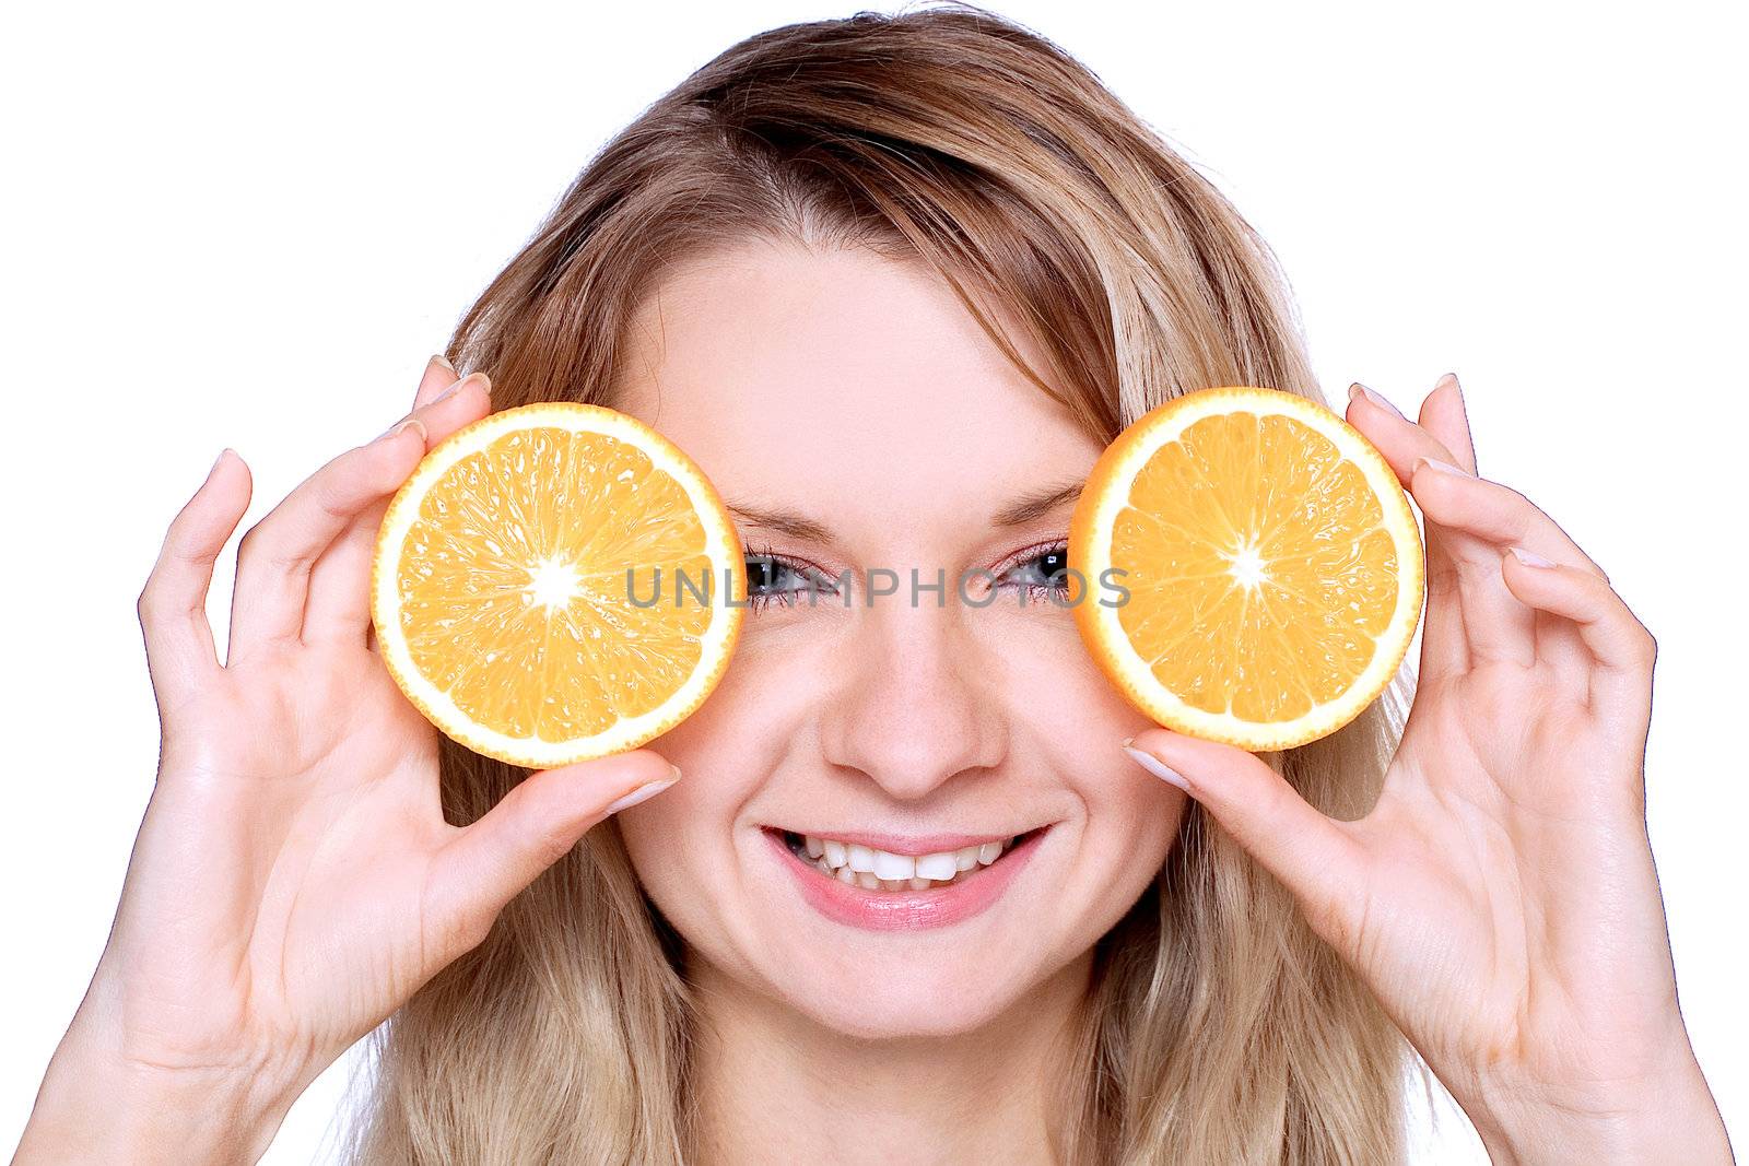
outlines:
[{"label": "round orange slice held by the hand on the right", "polygon": [[1383,455],[1324,406],[1249,386],[1186,393],[1119,434],[1076,503],[1069,561],[1112,685],[1168,729],[1252,752],[1361,715],[1425,586]]}]

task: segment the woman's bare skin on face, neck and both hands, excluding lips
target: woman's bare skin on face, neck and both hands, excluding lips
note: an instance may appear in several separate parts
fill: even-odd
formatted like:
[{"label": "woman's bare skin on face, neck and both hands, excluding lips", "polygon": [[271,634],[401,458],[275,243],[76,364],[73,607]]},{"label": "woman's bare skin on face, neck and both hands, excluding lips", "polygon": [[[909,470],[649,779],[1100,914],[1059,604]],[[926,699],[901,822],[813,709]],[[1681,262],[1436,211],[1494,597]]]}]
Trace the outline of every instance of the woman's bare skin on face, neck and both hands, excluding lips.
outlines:
[{"label": "woman's bare skin on face, neck and both hands, excluding lips", "polygon": [[[1069,514],[1000,531],[990,516],[1098,453],[929,276],[764,243],[665,283],[616,404],[731,502],[831,526],[831,545],[743,528],[829,575],[1006,566]],[[750,612],[717,692],[652,748],[533,774],[448,827],[436,731],[367,642],[369,544],[423,449],[488,409],[483,379],[434,362],[415,425],[250,528],[226,664],[203,598],[247,467],[224,456],[177,516],[140,598],[157,787],[16,1161],[257,1157],[324,1066],[635,792],[619,825],[700,986],[710,1161],[1046,1161],[1088,949],[1186,797],[1294,892],[1495,1161],[1730,1161],[1646,841],[1653,640],[1548,516],[1473,477],[1455,379],[1413,423],[1364,395],[1347,411],[1429,551],[1420,692],[1378,808],[1352,823],[1251,753],[1147,727],[1067,610],[901,594]],[[1132,736],[1144,764],[1119,750]],[[668,760],[689,776],[651,797]],[[771,823],[1051,830],[985,914],[874,935],[794,899],[761,850]]]}]

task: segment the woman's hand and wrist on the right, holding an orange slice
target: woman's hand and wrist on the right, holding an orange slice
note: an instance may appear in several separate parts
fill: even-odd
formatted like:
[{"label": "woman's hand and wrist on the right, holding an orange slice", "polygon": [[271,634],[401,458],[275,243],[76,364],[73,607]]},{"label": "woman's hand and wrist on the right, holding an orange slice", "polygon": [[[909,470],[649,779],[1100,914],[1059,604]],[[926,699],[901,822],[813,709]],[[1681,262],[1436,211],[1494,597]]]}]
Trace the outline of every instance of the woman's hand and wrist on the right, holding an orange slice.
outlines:
[{"label": "woman's hand and wrist on the right, holding an orange slice", "polygon": [[1495,1161],[1730,1163],[1646,836],[1653,636],[1553,519],[1476,477],[1457,378],[1418,423],[1364,390],[1348,421],[1425,521],[1418,685],[1376,806],[1338,822],[1261,757],[1167,729],[1133,746],[1294,893]]}]

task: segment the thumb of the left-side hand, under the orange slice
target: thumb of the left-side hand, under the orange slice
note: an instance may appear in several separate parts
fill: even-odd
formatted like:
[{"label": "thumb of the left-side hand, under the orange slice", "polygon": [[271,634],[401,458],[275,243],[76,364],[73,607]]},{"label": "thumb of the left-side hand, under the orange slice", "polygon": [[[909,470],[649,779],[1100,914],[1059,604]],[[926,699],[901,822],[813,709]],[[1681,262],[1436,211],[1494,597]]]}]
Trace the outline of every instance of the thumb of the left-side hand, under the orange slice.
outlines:
[{"label": "thumb of the left-side hand, under the orange slice", "polygon": [[437,932],[458,937],[458,951],[472,947],[504,906],[589,827],[679,778],[680,771],[651,750],[530,774],[439,851],[429,902]]}]

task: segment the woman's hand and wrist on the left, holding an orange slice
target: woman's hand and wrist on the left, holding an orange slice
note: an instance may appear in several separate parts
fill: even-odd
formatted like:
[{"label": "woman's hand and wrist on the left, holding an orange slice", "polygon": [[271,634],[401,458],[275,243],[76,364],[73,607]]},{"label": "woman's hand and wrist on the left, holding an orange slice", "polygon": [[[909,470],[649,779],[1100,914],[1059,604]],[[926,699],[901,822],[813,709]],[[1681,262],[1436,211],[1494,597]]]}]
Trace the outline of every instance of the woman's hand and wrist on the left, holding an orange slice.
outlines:
[{"label": "woman's hand and wrist on the left, holding an orange slice", "polygon": [[140,594],[157,785],[17,1163],[254,1161],[296,1096],[511,897],[677,776],[633,750],[444,822],[437,731],[374,650],[371,554],[394,491],[488,393],[434,358],[411,420],[243,535],[224,664],[205,605],[248,509],[243,462],[222,455],[171,523]]}]

